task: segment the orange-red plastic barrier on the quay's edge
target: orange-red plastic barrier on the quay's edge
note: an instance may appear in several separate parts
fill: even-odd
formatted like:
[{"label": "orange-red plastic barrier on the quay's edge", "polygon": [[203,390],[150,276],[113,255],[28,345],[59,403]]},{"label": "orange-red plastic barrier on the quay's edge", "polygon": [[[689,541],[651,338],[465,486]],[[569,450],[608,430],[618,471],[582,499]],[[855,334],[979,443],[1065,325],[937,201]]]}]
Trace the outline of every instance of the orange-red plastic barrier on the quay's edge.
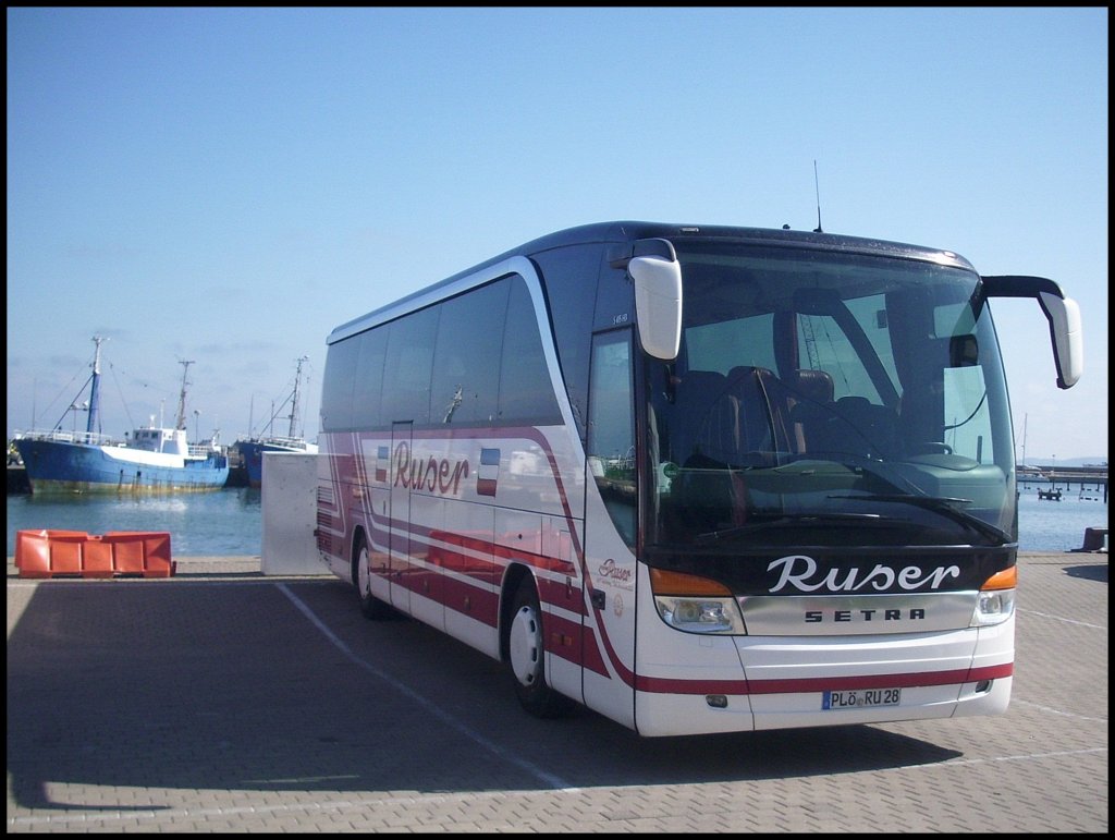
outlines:
[{"label": "orange-red plastic barrier on the quay's edge", "polygon": [[175,562],[166,531],[17,531],[16,568],[21,578],[168,578]]}]

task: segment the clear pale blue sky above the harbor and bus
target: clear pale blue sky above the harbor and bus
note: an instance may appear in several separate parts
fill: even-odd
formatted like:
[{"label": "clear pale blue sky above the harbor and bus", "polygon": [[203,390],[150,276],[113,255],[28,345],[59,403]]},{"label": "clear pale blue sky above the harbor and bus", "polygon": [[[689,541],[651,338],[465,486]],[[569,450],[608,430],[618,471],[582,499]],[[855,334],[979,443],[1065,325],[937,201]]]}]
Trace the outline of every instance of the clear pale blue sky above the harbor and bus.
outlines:
[{"label": "clear pale blue sky above the harbor and bus", "polygon": [[[8,8],[7,434],[318,433],[337,326],[642,220],[956,251],[1080,306],[1058,389],[991,302],[1030,463],[1107,460],[1103,7]],[[190,361],[190,365],[183,365]]]}]

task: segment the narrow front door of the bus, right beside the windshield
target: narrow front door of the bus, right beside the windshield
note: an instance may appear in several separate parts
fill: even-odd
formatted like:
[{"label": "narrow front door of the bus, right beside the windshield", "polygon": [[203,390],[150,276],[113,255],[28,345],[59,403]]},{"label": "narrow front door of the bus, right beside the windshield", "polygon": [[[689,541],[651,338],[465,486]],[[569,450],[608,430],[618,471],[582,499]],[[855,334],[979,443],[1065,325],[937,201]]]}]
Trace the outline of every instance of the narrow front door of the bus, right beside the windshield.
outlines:
[{"label": "narrow front door of the bus, right beside the windshield", "polygon": [[589,383],[584,516],[584,701],[633,726],[636,631],[634,387],[631,330],[598,335]]}]

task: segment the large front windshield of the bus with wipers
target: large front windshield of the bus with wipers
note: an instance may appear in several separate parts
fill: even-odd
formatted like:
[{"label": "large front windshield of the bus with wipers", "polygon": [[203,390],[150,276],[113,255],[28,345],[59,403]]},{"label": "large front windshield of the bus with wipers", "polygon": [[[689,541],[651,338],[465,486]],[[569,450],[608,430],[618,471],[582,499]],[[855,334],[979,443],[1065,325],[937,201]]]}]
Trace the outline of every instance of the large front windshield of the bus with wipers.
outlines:
[{"label": "large front windshield of the bus with wipers", "polygon": [[649,548],[1015,542],[1010,414],[978,274],[675,244],[680,351],[644,360]]}]

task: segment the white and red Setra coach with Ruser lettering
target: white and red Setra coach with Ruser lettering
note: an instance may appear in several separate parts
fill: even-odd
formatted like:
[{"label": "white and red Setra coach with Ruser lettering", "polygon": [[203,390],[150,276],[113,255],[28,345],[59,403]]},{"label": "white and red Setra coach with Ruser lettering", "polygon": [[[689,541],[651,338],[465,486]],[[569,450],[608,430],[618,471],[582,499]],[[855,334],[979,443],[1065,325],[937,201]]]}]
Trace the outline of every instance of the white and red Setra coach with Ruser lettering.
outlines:
[{"label": "white and red Setra coach with Ruser lettering", "polygon": [[[416,264],[418,264],[416,262]],[[1038,277],[823,232],[550,233],[327,337],[314,538],[371,619],[644,736],[990,715],[1015,443],[989,302]]]}]

